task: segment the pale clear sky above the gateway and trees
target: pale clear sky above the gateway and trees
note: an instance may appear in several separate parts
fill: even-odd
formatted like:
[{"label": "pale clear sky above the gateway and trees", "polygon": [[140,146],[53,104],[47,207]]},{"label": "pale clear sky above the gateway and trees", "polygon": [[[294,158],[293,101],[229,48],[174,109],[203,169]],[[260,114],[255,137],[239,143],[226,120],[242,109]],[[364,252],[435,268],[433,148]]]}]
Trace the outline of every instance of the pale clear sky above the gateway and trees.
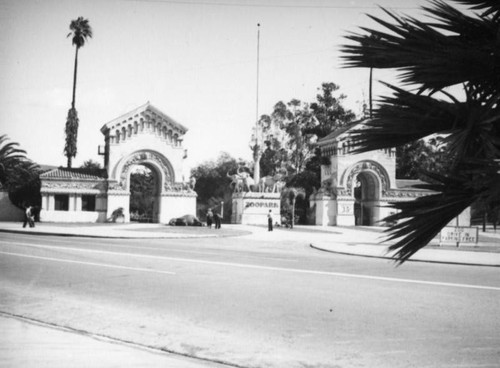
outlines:
[{"label": "pale clear sky above the gateway and trees", "polygon": [[[334,82],[356,113],[368,69],[342,68],[348,32],[387,19],[378,5],[422,16],[425,0],[0,0],[0,135],[39,164],[64,166],[75,48],[71,20],[89,20],[79,51],[80,118],[73,166],[100,163],[101,127],[146,102],[189,130],[190,167],[220,152],[251,159],[257,113],[279,102],[313,102]],[[257,33],[259,88],[257,92]],[[374,96],[384,93],[374,73]],[[257,103],[258,96],[258,103]]]}]

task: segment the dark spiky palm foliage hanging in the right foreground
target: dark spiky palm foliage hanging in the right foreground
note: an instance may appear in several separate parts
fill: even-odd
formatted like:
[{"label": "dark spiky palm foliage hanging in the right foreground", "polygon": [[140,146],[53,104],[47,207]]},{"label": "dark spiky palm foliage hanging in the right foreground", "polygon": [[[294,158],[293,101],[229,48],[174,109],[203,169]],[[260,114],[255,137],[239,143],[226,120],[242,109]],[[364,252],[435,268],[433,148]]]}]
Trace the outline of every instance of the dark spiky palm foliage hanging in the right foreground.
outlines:
[{"label": "dark spiky palm foliage hanging in the right foreground", "polygon": [[[369,16],[384,30],[347,36],[347,67],[396,69],[401,87],[386,84],[392,96],[380,99],[367,128],[354,131],[355,152],[397,147],[432,134],[444,134],[443,171],[421,185],[435,194],[392,203],[400,211],[386,220],[397,239],[390,249],[404,262],[454,217],[475,202],[500,197],[500,7],[495,0],[455,0],[482,13],[463,13],[435,0],[424,22],[385,10],[390,21]],[[462,89],[463,98],[447,89]]]}]

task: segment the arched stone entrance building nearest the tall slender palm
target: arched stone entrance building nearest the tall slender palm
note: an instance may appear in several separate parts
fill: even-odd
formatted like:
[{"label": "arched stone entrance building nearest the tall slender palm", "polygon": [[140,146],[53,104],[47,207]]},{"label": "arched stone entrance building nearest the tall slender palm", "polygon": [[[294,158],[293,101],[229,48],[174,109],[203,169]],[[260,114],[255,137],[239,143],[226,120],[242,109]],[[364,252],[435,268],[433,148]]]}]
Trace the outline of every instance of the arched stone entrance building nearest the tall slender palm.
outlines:
[{"label": "arched stone entrance building nearest the tall slender palm", "polygon": [[155,177],[153,222],[196,213],[196,193],[185,170],[187,128],[149,102],[101,128],[104,170],[58,168],[40,176],[42,221],[130,221],[130,174],[138,167]]}]

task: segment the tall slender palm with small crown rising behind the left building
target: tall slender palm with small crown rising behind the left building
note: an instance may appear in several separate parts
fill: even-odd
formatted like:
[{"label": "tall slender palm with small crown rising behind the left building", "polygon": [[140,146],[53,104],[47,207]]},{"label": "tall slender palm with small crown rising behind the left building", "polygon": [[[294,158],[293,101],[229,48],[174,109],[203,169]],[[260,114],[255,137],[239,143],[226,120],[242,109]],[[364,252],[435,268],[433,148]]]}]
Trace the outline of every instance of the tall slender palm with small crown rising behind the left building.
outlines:
[{"label": "tall slender palm with small crown rising behind the left building", "polygon": [[72,44],[76,46],[75,50],[75,68],[73,72],[73,99],[71,100],[71,109],[68,111],[66,118],[66,144],[64,146],[64,154],[68,158],[68,167],[71,167],[72,158],[76,156],[76,141],[78,136],[78,113],[75,108],[76,96],[76,75],[78,69],[78,50],[85,45],[87,38],[92,37],[92,28],[89,25],[88,19],[78,17],[72,20],[69,29],[71,32],[67,37],[71,36]]}]

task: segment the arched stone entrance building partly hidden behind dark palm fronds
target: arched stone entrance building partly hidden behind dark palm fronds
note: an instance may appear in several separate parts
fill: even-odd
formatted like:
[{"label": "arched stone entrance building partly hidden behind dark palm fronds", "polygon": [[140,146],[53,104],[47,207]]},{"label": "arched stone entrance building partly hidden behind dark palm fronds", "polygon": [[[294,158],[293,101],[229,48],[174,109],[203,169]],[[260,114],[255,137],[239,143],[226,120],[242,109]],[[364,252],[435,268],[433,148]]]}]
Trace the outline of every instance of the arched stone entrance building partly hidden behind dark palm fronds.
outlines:
[{"label": "arched stone entrance building partly hidden behind dark palm fronds", "polygon": [[311,196],[316,225],[381,225],[391,214],[389,202],[407,201],[428,194],[412,188],[418,180],[396,179],[394,148],[361,154],[351,153],[348,132],[355,122],[318,141],[329,163],[321,166],[321,188]]}]

